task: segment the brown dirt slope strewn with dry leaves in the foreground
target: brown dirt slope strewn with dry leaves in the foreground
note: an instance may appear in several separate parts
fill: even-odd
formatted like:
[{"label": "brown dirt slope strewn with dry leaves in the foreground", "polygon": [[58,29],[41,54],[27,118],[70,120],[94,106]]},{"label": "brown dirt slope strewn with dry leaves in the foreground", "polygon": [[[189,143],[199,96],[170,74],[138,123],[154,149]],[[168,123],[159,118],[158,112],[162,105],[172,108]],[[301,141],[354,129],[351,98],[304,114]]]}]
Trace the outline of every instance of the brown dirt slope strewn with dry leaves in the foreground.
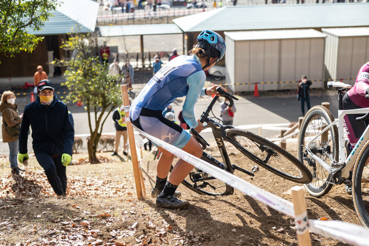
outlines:
[{"label": "brown dirt slope strewn with dry leaves in the foreground", "polygon": [[[220,157],[215,150],[212,143],[207,152]],[[55,196],[34,155],[20,176],[11,175],[8,156],[0,156],[2,245],[297,245],[292,218],[240,191],[213,197],[180,185],[182,199],[191,204],[188,209],[156,208],[149,196],[155,184],[154,155],[142,162],[144,200],[135,198],[132,164],[126,156],[99,153],[101,164],[89,164],[86,156],[73,155],[73,164],[67,167],[66,199]],[[254,166],[238,153],[231,160],[249,170]],[[296,185],[262,168],[252,179],[238,176],[287,200],[289,188]],[[352,197],[343,186],[335,186],[323,198],[308,194],[305,198],[309,218],[359,224]],[[312,245],[344,245],[315,234],[311,239]]]}]

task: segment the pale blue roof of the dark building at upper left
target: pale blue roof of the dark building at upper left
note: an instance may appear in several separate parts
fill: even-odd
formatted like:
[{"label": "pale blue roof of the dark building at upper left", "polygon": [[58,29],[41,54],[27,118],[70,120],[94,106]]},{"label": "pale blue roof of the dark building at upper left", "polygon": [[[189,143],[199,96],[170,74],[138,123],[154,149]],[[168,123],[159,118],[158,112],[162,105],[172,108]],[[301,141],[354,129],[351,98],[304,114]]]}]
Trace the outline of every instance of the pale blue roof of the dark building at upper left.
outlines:
[{"label": "pale blue roof of the dark building at upper left", "polygon": [[96,27],[99,3],[92,0],[63,0],[61,6],[52,11],[45,26],[39,31],[28,31],[35,35],[58,35],[71,32],[71,28],[80,32],[93,32]]}]

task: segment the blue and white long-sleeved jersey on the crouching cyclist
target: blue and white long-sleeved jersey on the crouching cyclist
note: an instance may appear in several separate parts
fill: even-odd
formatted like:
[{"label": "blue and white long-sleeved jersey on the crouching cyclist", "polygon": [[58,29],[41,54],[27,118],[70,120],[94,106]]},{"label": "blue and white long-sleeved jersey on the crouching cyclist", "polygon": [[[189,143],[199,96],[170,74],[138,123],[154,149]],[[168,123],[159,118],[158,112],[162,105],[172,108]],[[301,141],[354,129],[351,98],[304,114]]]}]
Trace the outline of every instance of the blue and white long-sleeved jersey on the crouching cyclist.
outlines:
[{"label": "blue and white long-sleeved jersey on the crouching cyclist", "polygon": [[194,105],[205,95],[205,73],[197,56],[181,55],[163,66],[146,84],[131,105],[130,118],[136,120],[142,108],[163,111],[177,97],[186,96],[182,115],[190,127],[196,128]]}]

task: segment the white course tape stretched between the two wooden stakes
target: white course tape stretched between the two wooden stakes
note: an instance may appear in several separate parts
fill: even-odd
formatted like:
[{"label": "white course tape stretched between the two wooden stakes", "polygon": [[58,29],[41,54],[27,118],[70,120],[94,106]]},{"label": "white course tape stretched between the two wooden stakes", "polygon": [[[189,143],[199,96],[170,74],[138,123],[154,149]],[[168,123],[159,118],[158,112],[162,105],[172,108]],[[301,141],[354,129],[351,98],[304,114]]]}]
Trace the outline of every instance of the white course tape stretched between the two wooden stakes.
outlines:
[{"label": "white course tape stretched between the two wooden stakes", "polygon": [[264,204],[268,205],[269,207],[282,212],[283,214],[287,214],[291,217],[294,217],[294,211],[293,211],[293,204],[290,201],[284,200],[283,198],[280,198],[276,195],[273,195],[272,193],[266,192],[262,190],[261,188],[258,188],[254,186],[253,184],[250,184],[246,182],[243,179],[240,179],[237,176],[234,176],[231,173],[228,173],[227,171],[224,171],[220,168],[214,167],[213,165],[205,162],[204,160],[201,160],[193,155],[190,155],[189,153],[183,151],[182,149],[179,149],[173,145],[170,145],[169,143],[166,143],[158,138],[155,138],[154,136],[151,136],[137,127],[134,126],[136,131],[138,131],[141,135],[145,136],[152,142],[155,142],[157,145],[161,146],[163,149],[168,150],[170,153],[173,153],[174,155],[178,156],[180,159],[183,159],[184,161],[192,164],[193,166],[203,170],[204,172],[208,173],[209,175],[215,177],[218,180],[223,181],[224,183],[236,188],[237,190],[242,191],[246,195],[255,198],[258,201],[263,202]]}]

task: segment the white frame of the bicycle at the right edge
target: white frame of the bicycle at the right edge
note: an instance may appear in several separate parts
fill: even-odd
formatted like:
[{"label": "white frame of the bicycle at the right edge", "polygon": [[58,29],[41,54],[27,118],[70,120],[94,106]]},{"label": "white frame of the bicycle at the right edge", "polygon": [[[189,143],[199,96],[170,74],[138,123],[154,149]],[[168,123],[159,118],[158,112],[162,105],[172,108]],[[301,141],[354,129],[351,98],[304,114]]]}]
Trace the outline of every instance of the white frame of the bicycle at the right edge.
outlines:
[{"label": "white frame of the bicycle at the right edge", "polygon": [[[341,170],[341,177],[342,178],[348,178],[349,177],[349,171],[355,164],[356,157],[358,156],[359,151],[364,143],[369,139],[369,126],[365,129],[363,134],[361,135],[358,143],[356,143],[354,149],[351,151],[350,155],[346,158],[345,157],[345,146],[344,146],[344,116],[346,114],[366,114],[369,111],[369,108],[359,108],[359,109],[352,109],[352,110],[338,110],[338,119],[333,121],[331,124],[329,124],[327,127],[325,127],[318,135],[316,135],[313,139],[311,139],[307,144],[306,148],[310,150],[310,145],[312,142],[315,141],[318,137],[320,137],[325,131],[327,131],[332,125],[335,125],[338,123],[338,149],[339,149],[339,159],[338,162],[340,164],[344,164],[344,168]],[[363,141],[365,139],[365,141]],[[324,167],[325,170],[331,172],[331,166],[327,164],[324,160],[319,158],[318,156],[314,155],[309,151],[309,155],[317,161],[322,167]]]}]

